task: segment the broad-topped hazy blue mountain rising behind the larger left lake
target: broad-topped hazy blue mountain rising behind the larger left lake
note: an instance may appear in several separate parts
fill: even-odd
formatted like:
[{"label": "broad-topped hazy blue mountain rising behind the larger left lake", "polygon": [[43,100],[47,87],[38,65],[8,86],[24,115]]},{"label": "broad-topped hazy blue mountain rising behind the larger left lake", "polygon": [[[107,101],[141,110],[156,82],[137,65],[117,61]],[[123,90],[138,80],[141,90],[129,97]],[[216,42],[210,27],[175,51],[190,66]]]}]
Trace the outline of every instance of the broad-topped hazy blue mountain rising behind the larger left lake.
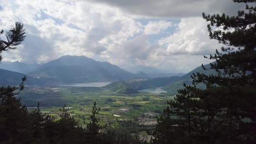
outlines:
[{"label": "broad-topped hazy blue mountain rising behind the larger left lake", "polygon": [[59,83],[111,82],[138,77],[117,65],[98,62],[86,56],[62,56],[41,65],[28,73],[33,77],[44,77]]}]

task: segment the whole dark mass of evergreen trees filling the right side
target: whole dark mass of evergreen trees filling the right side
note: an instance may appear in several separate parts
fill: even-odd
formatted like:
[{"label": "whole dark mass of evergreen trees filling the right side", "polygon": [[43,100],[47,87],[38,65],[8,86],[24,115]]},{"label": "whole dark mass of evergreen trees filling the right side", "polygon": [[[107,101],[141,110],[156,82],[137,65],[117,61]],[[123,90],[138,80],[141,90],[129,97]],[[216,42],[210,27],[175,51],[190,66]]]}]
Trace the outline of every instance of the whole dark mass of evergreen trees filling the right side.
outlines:
[{"label": "whole dark mass of evergreen trees filling the right side", "polygon": [[[256,0],[233,0],[255,3]],[[246,4],[237,16],[203,13],[210,22],[210,39],[225,45],[216,50],[210,69],[218,75],[193,74],[193,84],[185,86],[174,101],[168,101],[164,115],[152,134],[154,143],[255,144],[256,143],[256,7]],[[213,30],[217,27],[218,30]],[[203,67],[204,68],[204,67]],[[205,69],[205,68],[204,68]],[[178,116],[177,119],[171,118]]]}]

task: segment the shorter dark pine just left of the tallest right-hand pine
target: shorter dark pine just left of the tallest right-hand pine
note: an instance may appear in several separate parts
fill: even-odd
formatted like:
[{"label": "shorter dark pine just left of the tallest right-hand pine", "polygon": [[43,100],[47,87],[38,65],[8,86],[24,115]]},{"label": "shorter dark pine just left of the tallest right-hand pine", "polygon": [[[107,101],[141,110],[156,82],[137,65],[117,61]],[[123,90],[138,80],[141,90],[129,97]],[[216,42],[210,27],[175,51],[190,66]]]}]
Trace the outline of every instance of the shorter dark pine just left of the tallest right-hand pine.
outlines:
[{"label": "shorter dark pine just left of the tallest right-hand pine", "polygon": [[167,101],[154,131],[148,131],[155,144],[199,144],[194,135],[198,134],[197,123],[202,108],[198,99],[200,89],[195,86],[185,85],[178,90],[174,101]]}]

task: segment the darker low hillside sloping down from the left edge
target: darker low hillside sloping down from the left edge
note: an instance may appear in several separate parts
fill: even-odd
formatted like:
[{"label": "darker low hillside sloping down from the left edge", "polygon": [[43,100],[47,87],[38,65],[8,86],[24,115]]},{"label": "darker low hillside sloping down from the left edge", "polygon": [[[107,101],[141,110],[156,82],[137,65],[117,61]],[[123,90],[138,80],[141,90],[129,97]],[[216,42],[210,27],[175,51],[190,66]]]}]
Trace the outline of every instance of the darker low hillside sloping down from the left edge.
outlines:
[{"label": "darker low hillside sloping down from the left edge", "polygon": [[[24,75],[25,74],[19,72],[0,69],[0,85],[20,85]],[[43,83],[41,79],[33,78],[28,75],[25,76],[27,78],[26,82],[24,82],[25,85],[39,85]]]}]

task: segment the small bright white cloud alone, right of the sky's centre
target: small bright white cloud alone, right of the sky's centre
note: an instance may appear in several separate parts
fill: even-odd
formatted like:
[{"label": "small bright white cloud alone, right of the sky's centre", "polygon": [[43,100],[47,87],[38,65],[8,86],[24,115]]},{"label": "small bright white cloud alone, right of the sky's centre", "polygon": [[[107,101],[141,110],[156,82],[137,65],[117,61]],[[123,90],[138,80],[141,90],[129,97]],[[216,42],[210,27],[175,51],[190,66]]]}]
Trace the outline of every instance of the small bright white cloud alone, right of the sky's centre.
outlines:
[{"label": "small bright white cloud alone, right of the sky's centre", "polygon": [[162,33],[165,29],[172,26],[172,22],[167,22],[165,20],[160,21],[149,21],[146,26],[144,26],[144,33],[146,35],[153,35]]}]

